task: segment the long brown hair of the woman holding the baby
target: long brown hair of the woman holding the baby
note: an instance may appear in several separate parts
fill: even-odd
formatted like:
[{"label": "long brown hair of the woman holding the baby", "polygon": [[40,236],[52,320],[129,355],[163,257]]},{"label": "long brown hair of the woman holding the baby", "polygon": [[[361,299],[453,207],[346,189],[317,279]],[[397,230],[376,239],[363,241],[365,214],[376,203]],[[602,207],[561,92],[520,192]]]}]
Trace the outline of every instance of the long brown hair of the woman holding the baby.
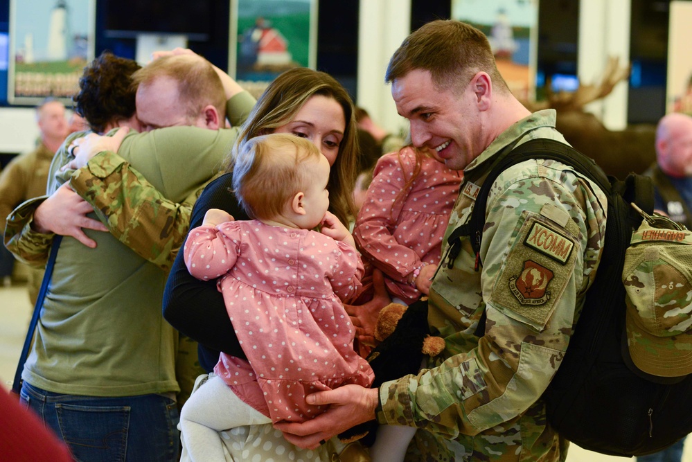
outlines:
[{"label": "long brown hair of the woman holding the baby", "polygon": [[344,109],[346,127],[339,145],[337,159],[329,172],[329,210],[342,223],[348,223],[355,214],[353,188],[358,162],[356,123],[353,102],[344,87],[331,75],[296,67],[279,75],[260,96],[247,121],[240,127],[240,134],[227,160],[227,170],[232,170],[233,157],[242,146],[255,136],[274,132],[286,125],[312,96],[333,98]]}]

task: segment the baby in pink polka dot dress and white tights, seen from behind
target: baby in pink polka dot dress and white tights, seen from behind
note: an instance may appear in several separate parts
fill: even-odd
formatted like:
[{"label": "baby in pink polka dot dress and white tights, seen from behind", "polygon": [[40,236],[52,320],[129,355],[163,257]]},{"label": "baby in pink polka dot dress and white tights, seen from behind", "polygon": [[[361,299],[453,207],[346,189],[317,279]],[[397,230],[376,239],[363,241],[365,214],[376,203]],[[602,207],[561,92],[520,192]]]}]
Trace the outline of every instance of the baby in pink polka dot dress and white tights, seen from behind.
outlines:
[{"label": "baby in pink polka dot dress and white tights, seen from behind", "polygon": [[308,405],[308,394],[373,380],[341,303],[360,288],[363,265],[348,229],[327,211],[328,179],[328,161],[310,141],[258,136],[233,167],[236,195],[255,220],[211,209],[189,233],[188,270],[218,279],[247,356],[222,353],[215,377],[184,405],[180,426],[193,461],[224,460],[222,430],[302,422],[326,409]]}]

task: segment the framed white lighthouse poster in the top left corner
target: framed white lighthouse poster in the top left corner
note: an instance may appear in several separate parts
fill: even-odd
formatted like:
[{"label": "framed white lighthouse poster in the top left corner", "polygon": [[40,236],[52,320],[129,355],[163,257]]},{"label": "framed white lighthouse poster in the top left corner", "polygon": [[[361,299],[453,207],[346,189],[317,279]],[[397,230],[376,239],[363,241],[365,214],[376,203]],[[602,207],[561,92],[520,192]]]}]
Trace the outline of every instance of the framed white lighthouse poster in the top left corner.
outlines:
[{"label": "framed white lighthouse poster in the top left corner", "polygon": [[95,0],[10,0],[8,102],[72,105],[94,59]]}]

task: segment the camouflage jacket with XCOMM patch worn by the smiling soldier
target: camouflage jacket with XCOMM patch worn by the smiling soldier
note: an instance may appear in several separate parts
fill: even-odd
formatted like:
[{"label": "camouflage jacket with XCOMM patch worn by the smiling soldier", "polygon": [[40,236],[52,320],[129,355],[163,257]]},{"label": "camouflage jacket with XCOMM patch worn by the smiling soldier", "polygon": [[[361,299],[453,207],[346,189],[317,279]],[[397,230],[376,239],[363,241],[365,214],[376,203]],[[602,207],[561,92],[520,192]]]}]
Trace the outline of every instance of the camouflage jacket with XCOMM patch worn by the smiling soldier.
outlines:
[{"label": "camouflage jacket with XCOMM patch worn by the smiling soldier", "polygon": [[[565,142],[555,112],[524,118],[465,169],[478,177],[506,145]],[[483,177],[461,184],[448,236],[468,221]],[[429,368],[380,387],[380,423],[416,426],[410,460],[557,461],[564,441],[546,424],[540,396],[560,365],[592,283],[605,235],[605,195],[556,161],[502,172],[488,194],[480,260],[468,237],[452,267],[444,258],[428,321],[445,338]],[[485,332],[477,337],[481,314]],[[587,423],[585,423],[587,425]]]}]

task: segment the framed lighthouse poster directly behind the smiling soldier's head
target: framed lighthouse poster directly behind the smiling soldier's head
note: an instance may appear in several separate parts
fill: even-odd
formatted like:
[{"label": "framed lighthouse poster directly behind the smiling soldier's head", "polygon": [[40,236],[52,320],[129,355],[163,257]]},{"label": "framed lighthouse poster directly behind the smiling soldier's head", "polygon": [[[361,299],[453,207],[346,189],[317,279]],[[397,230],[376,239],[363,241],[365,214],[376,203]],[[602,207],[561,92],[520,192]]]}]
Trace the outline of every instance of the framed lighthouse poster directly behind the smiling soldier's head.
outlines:
[{"label": "framed lighthouse poster directly behind the smiling soldier's head", "polygon": [[533,100],[538,0],[452,0],[452,18],[486,34],[509,89],[520,100]]}]

